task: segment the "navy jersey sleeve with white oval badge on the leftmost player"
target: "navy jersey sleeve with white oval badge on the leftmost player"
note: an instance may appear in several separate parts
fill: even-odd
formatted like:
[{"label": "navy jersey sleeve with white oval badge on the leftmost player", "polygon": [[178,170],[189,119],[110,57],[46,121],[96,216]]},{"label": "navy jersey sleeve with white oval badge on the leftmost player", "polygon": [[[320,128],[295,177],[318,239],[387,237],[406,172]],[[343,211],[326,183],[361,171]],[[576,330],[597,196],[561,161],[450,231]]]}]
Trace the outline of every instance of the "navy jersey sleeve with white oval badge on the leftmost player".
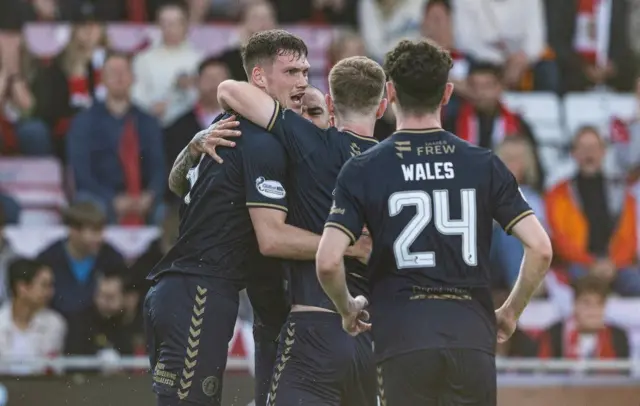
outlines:
[{"label": "navy jersey sleeve with white oval badge on the leftmost player", "polygon": [[248,128],[242,129],[242,136],[250,137],[242,151],[247,206],[286,212],[287,154],[284,147],[272,135],[259,134],[264,130]]}]

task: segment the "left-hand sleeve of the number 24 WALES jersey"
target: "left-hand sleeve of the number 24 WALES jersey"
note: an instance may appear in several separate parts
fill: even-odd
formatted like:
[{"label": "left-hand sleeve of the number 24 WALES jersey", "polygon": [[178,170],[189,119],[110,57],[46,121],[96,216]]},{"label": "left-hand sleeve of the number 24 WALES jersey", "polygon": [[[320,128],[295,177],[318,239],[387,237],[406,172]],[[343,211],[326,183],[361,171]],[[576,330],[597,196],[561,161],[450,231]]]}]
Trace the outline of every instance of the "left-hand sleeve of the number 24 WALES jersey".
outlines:
[{"label": "left-hand sleeve of the number 24 WALES jersey", "polygon": [[352,244],[360,238],[365,223],[362,180],[358,179],[357,172],[353,159],[342,167],[333,191],[333,205],[324,225],[344,232]]}]

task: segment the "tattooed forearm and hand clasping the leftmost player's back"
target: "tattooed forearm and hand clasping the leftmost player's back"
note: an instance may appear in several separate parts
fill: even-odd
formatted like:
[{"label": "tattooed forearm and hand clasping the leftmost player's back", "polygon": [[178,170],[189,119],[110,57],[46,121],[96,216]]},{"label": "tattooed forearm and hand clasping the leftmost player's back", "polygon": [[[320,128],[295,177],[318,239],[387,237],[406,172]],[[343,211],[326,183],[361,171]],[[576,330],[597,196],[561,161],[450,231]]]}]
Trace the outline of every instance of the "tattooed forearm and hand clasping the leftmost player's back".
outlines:
[{"label": "tattooed forearm and hand clasping the leftmost player's back", "polygon": [[235,142],[223,138],[240,135],[240,131],[233,130],[240,125],[239,122],[234,120],[234,116],[220,120],[209,128],[198,132],[193,137],[173,163],[169,173],[169,190],[179,197],[183,197],[189,191],[187,173],[200,160],[202,154],[209,154],[218,163],[222,163],[222,158],[218,156],[215,148],[217,146],[234,147],[236,145]]}]

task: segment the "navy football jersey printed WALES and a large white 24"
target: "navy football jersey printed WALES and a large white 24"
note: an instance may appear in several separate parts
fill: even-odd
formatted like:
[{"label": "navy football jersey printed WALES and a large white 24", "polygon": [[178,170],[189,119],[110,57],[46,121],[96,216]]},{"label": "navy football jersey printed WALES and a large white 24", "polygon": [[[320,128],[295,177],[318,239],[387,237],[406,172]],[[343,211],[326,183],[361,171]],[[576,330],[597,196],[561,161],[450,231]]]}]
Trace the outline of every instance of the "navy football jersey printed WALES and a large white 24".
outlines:
[{"label": "navy football jersey printed WALES and a large white 24", "polygon": [[441,129],[405,130],[354,157],[326,227],[355,241],[367,224],[378,360],[426,348],[495,351],[489,250],[533,214],[490,150]]}]

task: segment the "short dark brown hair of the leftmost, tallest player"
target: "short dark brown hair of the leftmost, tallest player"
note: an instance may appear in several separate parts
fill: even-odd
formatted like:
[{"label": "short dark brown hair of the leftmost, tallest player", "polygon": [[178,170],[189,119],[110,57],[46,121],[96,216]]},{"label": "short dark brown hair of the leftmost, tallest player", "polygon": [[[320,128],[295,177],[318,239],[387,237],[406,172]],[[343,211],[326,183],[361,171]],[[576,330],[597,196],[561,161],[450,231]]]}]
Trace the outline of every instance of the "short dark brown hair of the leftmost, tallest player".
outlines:
[{"label": "short dark brown hair of the leftmost, tallest player", "polygon": [[251,70],[260,63],[273,62],[280,55],[306,58],[308,54],[307,45],[300,37],[285,30],[266,30],[249,37],[242,48],[242,65],[251,78]]}]

